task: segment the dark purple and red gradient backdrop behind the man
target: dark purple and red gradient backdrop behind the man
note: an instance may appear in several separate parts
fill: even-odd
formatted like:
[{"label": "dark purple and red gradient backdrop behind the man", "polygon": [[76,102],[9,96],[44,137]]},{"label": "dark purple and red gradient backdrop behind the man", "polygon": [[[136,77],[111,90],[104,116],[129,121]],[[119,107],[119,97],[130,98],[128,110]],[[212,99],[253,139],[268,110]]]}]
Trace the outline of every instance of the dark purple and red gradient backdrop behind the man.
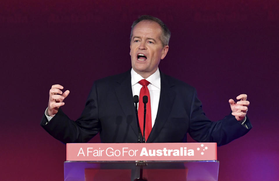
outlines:
[{"label": "dark purple and red gradient backdrop behind the man", "polygon": [[172,32],[159,68],[196,87],[210,119],[248,94],[254,128],[218,148],[219,180],[279,178],[277,0],[2,0],[0,9],[0,180],[63,180],[66,147],[39,125],[49,89],[70,90],[63,111],[77,119],[94,80],[131,67],[130,26],[143,14]]}]

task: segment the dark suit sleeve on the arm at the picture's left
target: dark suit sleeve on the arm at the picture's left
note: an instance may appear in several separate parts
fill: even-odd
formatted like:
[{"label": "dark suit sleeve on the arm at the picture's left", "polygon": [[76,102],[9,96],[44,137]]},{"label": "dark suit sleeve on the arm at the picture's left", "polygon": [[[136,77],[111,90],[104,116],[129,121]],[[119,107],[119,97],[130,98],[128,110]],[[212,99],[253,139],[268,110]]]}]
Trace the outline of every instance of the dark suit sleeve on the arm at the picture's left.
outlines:
[{"label": "dark suit sleeve on the arm at the picture's left", "polygon": [[45,114],[40,125],[54,138],[63,143],[86,143],[101,130],[98,119],[96,84],[90,91],[85,108],[77,121],[71,120],[59,108],[57,114],[47,123]]}]

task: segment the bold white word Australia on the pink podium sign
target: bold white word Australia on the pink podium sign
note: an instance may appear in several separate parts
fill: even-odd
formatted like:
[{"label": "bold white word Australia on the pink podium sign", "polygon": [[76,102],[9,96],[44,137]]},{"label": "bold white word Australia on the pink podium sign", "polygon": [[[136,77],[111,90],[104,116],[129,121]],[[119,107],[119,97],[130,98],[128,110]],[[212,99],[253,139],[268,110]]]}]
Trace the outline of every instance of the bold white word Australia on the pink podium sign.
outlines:
[{"label": "bold white word Australia on the pink podium sign", "polygon": [[189,149],[187,147],[180,147],[180,150],[167,150],[167,148],[163,148],[163,150],[147,150],[145,147],[142,148],[140,156],[194,156],[194,150]]}]

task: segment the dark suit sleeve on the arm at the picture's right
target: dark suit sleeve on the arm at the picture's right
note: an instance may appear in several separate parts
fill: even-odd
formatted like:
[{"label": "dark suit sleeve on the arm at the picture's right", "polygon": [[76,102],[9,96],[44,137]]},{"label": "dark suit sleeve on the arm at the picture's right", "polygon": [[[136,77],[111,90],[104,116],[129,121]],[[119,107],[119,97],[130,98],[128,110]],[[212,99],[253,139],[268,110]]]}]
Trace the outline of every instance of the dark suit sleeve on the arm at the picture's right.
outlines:
[{"label": "dark suit sleeve on the arm at the picture's right", "polygon": [[252,125],[246,117],[245,128],[232,114],[224,119],[212,122],[202,110],[202,103],[197,97],[196,89],[193,91],[193,99],[190,112],[189,134],[198,142],[216,142],[217,146],[228,144],[229,142],[245,135]]}]

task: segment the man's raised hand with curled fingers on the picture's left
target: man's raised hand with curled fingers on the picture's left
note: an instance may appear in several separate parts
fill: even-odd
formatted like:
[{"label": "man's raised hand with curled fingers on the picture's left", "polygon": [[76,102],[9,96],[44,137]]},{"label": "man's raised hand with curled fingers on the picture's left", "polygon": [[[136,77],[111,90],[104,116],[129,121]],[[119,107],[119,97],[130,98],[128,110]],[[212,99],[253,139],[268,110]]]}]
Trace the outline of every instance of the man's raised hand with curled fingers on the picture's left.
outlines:
[{"label": "man's raised hand with curled fingers on the picture's left", "polygon": [[54,117],[54,115],[58,112],[60,106],[64,105],[63,100],[69,95],[70,91],[66,90],[63,94],[60,89],[63,89],[62,85],[56,84],[52,85],[49,90],[49,103],[47,112],[49,116]]}]

